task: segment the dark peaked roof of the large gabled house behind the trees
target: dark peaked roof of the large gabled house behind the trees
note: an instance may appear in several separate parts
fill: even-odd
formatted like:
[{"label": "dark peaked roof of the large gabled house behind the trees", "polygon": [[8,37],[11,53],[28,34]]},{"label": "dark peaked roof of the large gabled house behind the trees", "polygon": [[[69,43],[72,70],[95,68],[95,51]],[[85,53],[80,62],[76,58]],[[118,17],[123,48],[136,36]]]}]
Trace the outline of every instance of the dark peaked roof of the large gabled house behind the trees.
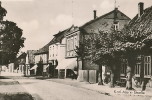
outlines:
[{"label": "dark peaked roof of the large gabled house behind the trees", "polygon": [[[118,14],[118,13],[120,13],[120,14]],[[114,19],[114,18],[115,18],[115,14],[118,14],[118,15],[117,15],[117,18],[118,18],[118,19],[130,20],[130,18],[129,18],[128,16],[126,16],[124,13],[122,13],[121,11],[119,11],[118,8],[115,8],[115,9],[112,10],[111,12],[106,13],[106,14],[104,14],[104,15],[96,18],[96,19],[93,19],[93,20],[85,23],[84,25],[81,26],[81,28],[83,28],[83,27],[85,27],[85,26],[87,26],[87,25],[90,25],[90,24],[92,24],[92,23],[94,23],[94,22],[97,22],[98,20],[100,20],[100,19],[102,19],[102,18],[106,18],[106,17],[107,17],[107,18],[109,18],[109,19]],[[108,16],[108,15],[112,15],[112,16]]]}]

